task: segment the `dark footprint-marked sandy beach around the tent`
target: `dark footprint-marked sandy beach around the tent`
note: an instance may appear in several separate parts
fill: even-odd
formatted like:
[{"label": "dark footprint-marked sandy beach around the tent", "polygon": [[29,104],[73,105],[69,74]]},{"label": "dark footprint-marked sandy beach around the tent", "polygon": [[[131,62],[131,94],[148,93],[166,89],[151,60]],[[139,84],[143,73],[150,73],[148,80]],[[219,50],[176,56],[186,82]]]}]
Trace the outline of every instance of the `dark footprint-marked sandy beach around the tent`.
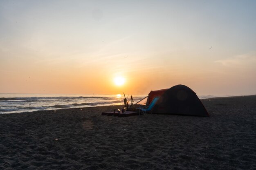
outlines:
[{"label": "dark footprint-marked sandy beach around the tent", "polygon": [[210,117],[102,116],[121,106],[0,115],[1,170],[255,170],[256,95],[202,99]]}]

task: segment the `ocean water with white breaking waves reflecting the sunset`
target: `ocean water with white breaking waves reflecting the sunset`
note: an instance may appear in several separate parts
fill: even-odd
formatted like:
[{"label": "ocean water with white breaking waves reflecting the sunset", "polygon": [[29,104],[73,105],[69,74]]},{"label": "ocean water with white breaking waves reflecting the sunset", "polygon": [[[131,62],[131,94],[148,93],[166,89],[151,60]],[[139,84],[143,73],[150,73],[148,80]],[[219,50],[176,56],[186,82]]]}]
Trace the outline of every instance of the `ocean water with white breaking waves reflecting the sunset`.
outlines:
[{"label": "ocean water with white breaking waves reflecting the sunset", "polygon": [[[132,95],[135,102],[147,95]],[[0,114],[62,108],[122,105],[123,95],[0,94]],[[127,96],[126,96],[127,97]],[[198,95],[200,99],[223,97]],[[130,96],[128,98],[130,100]]]}]

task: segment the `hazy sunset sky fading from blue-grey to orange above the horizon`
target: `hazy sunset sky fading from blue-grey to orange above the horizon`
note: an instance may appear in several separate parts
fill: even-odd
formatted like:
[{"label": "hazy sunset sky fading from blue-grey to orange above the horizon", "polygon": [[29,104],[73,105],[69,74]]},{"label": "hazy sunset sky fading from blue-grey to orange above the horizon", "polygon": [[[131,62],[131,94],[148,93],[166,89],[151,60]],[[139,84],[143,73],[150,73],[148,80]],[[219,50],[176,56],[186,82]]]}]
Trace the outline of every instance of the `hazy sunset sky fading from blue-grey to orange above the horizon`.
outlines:
[{"label": "hazy sunset sky fading from blue-grey to orange above the horizon", "polygon": [[255,0],[0,0],[0,93],[184,84],[198,95],[255,95],[255,9]]}]

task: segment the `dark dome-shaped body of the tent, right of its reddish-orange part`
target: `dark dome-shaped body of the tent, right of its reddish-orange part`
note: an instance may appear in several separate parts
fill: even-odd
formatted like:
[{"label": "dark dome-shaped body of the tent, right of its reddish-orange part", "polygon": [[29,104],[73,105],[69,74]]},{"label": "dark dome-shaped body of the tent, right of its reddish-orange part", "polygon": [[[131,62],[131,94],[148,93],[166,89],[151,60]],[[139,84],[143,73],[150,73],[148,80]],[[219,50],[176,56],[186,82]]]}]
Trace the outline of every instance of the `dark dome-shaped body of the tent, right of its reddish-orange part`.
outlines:
[{"label": "dark dome-shaped body of the tent, right of its reddish-orange part", "polygon": [[209,116],[196,93],[184,85],[176,85],[164,91],[151,111],[160,114]]}]

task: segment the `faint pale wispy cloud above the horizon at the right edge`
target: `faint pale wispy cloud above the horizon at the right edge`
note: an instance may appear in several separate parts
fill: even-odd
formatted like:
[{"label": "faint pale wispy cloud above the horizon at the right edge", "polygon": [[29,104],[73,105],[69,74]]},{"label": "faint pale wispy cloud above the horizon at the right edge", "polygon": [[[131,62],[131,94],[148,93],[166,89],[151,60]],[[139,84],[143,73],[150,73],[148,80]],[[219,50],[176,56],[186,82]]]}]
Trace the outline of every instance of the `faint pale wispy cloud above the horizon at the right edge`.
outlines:
[{"label": "faint pale wispy cloud above the horizon at the right edge", "polygon": [[217,60],[215,62],[220,63],[223,66],[245,66],[256,64],[256,51],[242,55],[236,55],[234,57],[226,58],[223,60]]}]

